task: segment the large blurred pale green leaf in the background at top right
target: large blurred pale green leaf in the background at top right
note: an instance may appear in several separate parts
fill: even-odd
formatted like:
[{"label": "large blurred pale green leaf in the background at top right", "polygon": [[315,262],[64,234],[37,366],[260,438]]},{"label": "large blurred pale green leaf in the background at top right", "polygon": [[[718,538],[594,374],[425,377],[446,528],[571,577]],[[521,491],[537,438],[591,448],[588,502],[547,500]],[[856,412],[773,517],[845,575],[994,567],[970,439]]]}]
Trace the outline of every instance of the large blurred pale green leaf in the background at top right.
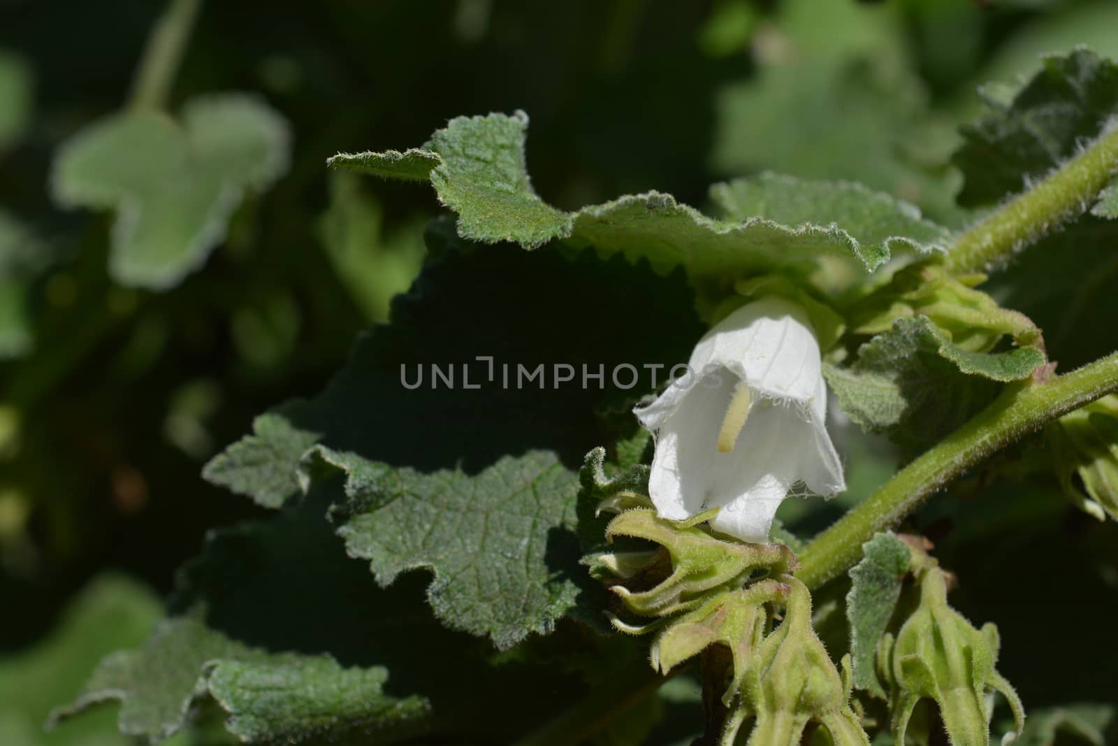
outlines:
[{"label": "large blurred pale green leaf in the background at top right", "polygon": [[716,100],[712,167],[858,180],[958,223],[942,172],[955,136],[928,112],[894,8],[792,0],[778,20],[755,35],[756,75]]}]

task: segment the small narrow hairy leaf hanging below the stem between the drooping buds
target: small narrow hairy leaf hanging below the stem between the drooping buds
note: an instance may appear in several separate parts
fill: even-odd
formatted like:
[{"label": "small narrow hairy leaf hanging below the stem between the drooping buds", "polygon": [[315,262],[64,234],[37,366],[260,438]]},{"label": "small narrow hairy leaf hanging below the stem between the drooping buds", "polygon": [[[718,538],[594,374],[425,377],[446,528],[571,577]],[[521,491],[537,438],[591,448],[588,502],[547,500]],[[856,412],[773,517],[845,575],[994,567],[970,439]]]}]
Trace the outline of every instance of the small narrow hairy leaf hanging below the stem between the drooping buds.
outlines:
[{"label": "small narrow hairy leaf hanging below the stem between the drooping buds", "polygon": [[908,545],[892,532],[878,533],[862,545],[862,561],[850,569],[846,621],[854,686],[882,699],[885,690],[878,680],[874,663],[878,641],[900,598],[910,560]]}]

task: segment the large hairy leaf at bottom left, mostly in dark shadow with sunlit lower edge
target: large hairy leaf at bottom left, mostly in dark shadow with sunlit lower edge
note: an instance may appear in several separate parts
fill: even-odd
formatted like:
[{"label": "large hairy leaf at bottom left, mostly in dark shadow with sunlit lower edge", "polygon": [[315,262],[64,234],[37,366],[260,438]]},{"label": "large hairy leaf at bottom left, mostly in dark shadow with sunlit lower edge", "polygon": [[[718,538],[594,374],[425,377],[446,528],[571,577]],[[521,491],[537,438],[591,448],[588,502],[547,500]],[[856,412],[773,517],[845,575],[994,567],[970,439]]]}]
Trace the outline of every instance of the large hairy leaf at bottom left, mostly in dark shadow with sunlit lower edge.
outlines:
[{"label": "large hairy leaf at bottom left, mostly in dark shadow with sunlit lower edge", "polygon": [[567,706],[572,674],[491,665],[486,641],[436,622],[423,578],[382,589],[347,557],[324,514],[344,500],[339,482],[211,532],[179,573],[171,617],[143,648],[107,658],[58,717],[121,699],[122,729],[158,738],[216,706],[243,740],[357,746],[423,735],[506,743]]}]

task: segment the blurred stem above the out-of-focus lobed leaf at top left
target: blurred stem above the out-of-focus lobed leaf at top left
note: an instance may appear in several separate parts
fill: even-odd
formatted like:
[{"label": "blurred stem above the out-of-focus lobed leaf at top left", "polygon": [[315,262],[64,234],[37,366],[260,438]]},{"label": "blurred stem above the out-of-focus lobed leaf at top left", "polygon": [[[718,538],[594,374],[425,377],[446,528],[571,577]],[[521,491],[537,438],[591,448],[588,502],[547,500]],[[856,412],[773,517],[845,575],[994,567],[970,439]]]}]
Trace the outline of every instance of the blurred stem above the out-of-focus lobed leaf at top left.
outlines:
[{"label": "blurred stem above the out-of-focus lobed leaf at top left", "polygon": [[163,108],[167,105],[200,6],[201,0],[170,0],[152,26],[132,84],[129,100],[132,108]]}]

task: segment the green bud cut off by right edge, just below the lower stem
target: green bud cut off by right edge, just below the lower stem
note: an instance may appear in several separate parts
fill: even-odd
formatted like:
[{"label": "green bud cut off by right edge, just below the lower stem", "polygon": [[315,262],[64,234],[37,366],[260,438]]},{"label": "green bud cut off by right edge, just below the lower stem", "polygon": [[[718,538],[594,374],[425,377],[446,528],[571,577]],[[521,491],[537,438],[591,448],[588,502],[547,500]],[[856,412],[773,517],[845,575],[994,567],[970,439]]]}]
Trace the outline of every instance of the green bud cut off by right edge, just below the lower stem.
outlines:
[{"label": "green bud cut off by right edge, just below the lower stem", "polygon": [[[1107,513],[1118,520],[1118,395],[1060,417],[1049,425],[1048,435],[1063,493],[1099,520]],[[1083,489],[1076,484],[1076,474]]]}]

